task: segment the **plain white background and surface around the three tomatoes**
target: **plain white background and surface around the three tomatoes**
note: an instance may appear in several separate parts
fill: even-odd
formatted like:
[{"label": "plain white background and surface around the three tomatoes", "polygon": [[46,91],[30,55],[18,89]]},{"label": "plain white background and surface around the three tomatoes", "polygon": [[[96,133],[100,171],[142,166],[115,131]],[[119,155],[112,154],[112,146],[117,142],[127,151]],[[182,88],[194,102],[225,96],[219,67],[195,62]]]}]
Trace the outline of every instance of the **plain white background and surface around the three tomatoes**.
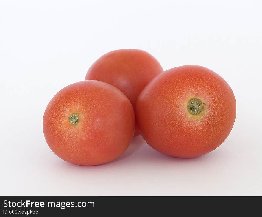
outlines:
[{"label": "plain white background and surface around the three tomatoes", "polygon": [[[2,1],[0,195],[262,195],[261,1]],[[141,136],[100,166],[49,149],[42,118],[63,87],[102,54],[143,49],[164,70],[208,67],[237,102],[229,137],[194,159],[171,158]]]}]

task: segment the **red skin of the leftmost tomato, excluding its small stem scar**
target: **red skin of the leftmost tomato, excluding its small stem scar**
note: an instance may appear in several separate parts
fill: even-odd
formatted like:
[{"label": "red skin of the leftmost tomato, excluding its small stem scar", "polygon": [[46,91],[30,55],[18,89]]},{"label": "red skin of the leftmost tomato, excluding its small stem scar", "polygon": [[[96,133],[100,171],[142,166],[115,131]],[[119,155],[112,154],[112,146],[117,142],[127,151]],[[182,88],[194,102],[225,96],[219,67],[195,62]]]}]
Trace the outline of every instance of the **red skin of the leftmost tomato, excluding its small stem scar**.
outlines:
[{"label": "red skin of the leftmost tomato, excluding its small stem scar", "polygon": [[[71,125],[69,117],[79,121]],[[80,81],[60,90],[49,102],[43,132],[50,149],[77,165],[112,161],[129,146],[135,130],[130,101],[116,87],[102,81]]]}]

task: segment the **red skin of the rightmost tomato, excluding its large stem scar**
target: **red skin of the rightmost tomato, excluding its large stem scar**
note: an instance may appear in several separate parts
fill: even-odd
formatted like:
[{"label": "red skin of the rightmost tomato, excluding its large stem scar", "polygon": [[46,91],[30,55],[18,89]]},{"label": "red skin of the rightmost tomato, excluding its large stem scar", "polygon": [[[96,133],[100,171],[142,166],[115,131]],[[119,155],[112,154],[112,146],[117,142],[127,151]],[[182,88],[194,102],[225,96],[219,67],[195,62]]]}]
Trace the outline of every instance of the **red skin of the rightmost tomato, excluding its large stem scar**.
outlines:
[{"label": "red skin of the rightmost tomato, excluding its large stem scar", "polygon": [[[205,103],[188,111],[190,99]],[[217,148],[229,135],[236,100],[227,82],[212,70],[186,65],[163,72],[141,92],[136,120],[141,135],[155,150],[172,157],[193,158]]]}]

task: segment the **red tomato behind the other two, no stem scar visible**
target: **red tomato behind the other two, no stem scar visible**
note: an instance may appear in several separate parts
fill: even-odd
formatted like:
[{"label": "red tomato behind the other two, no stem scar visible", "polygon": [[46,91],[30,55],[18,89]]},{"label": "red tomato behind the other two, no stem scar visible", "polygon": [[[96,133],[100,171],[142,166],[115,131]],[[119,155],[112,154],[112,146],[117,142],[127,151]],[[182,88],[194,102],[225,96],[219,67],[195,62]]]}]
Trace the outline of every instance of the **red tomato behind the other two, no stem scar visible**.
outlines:
[{"label": "red tomato behind the other two, no stem scar visible", "polygon": [[[135,108],[141,90],[163,72],[160,63],[146,51],[121,49],[101,56],[86,73],[85,80],[99,80],[120,89]],[[139,130],[135,130],[135,136]]]}]

